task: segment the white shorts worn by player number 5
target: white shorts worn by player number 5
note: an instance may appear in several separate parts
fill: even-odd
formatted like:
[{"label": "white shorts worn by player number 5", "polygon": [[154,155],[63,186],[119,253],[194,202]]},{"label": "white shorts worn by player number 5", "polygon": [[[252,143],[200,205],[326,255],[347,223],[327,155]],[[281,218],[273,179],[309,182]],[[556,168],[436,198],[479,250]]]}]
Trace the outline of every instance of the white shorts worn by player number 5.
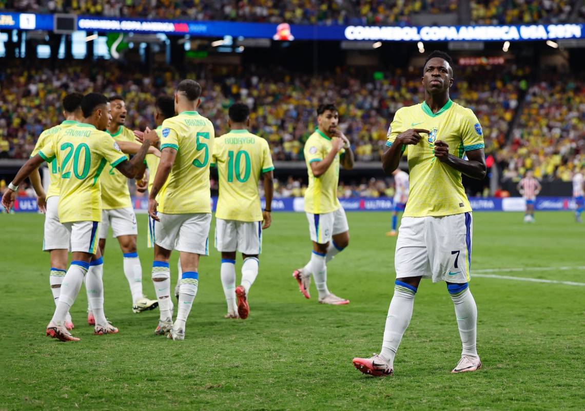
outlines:
[{"label": "white shorts worn by player number 5", "polygon": [[209,254],[210,213],[158,213],[160,222],[153,221],[154,243],[166,250]]}]

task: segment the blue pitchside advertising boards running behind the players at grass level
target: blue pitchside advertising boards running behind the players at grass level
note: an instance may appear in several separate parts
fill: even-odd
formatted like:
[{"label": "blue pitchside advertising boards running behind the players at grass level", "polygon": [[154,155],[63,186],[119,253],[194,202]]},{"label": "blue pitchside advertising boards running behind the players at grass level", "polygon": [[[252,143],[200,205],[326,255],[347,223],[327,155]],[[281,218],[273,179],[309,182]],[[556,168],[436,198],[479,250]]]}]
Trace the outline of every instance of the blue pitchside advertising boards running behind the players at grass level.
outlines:
[{"label": "blue pitchside advertising boards running behind the players at grass level", "polygon": [[[385,211],[394,210],[394,200],[388,197],[379,198],[342,198],[339,199],[346,211]],[[215,211],[217,197],[211,199],[212,210]],[[526,201],[520,197],[511,198],[471,198],[469,202],[473,211],[516,211],[523,212],[526,209]],[[145,213],[148,209],[146,197],[132,198],[132,204],[137,213]],[[264,208],[264,200],[261,207]],[[536,199],[535,209],[539,211],[569,211],[576,208],[574,199],[570,197],[540,197]],[[1,206],[0,206],[1,209]],[[36,198],[19,197],[14,205],[15,212],[38,212]],[[273,212],[304,212],[304,198],[276,198],[272,201]]]}]

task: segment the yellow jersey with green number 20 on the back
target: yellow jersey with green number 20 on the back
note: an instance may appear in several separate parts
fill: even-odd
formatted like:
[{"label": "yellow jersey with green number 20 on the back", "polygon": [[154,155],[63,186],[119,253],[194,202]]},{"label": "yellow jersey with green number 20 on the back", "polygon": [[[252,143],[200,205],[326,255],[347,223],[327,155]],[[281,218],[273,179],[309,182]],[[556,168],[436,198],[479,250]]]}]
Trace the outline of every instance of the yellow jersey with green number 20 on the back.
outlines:
[{"label": "yellow jersey with green number 20 on the back", "polygon": [[102,220],[99,175],[128,160],[116,141],[91,124],[77,123],[54,134],[39,149],[47,163],[57,161],[61,173],[59,220],[61,223]]}]

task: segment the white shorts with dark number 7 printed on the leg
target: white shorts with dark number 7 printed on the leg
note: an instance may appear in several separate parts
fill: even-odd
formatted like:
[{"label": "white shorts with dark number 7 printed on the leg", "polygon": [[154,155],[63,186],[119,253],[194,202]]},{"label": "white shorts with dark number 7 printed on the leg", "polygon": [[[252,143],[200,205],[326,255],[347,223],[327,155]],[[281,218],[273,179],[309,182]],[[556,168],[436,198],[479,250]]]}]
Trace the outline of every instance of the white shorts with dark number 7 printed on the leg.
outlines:
[{"label": "white shorts with dark number 7 printed on the leg", "polygon": [[470,281],[472,231],[472,213],[402,217],[394,257],[396,278]]}]

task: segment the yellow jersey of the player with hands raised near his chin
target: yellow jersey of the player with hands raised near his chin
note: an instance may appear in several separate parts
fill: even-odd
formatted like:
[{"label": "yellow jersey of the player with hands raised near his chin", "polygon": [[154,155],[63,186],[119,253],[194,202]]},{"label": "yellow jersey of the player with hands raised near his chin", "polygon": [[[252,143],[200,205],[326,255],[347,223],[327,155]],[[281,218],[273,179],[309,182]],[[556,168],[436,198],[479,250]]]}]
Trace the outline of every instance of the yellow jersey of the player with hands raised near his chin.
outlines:
[{"label": "yellow jersey of the player with hands raised near his chin", "polygon": [[341,207],[337,198],[339,162],[345,150],[339,151],[327,171],[319,177],[313,175],[311,163],[323,160],[333,148],[331,139],[316,129],[305,143],[305,163],[309,174],[309,186],[305,191],[305,211],[312,214],[331,213]]}]

